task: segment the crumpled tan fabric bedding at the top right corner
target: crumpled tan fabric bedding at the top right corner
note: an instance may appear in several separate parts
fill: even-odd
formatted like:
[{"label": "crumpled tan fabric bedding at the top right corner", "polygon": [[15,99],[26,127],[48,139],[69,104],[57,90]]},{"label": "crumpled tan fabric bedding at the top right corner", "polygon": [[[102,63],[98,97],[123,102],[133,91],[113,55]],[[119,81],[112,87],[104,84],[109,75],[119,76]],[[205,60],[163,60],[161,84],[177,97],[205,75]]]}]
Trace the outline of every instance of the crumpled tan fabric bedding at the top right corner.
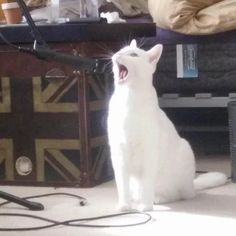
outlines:
[{"label": "crumpled tan fabric bedding at the top right corner", "polygon": [[236,0],[148,0],[157,26],[185,34],[236,29]]}]

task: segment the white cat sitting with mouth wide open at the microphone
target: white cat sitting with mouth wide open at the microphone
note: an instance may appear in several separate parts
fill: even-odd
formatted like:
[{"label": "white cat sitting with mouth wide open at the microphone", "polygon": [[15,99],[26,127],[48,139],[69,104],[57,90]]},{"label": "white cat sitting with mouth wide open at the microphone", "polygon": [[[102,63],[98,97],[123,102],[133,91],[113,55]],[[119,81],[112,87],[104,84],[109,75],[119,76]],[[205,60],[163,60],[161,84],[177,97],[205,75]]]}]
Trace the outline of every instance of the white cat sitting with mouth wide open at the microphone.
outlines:
[{"label": "white cat sitting with mouth wide open at the microphone", "polygon": [[152,84],[162,48],[144,51],[133,40],[112,57],[108,136],[121,211],[152,210],[153,203],[193,198],[227,180],[222,173],[194,179],[193,151],[160,109]]}]

